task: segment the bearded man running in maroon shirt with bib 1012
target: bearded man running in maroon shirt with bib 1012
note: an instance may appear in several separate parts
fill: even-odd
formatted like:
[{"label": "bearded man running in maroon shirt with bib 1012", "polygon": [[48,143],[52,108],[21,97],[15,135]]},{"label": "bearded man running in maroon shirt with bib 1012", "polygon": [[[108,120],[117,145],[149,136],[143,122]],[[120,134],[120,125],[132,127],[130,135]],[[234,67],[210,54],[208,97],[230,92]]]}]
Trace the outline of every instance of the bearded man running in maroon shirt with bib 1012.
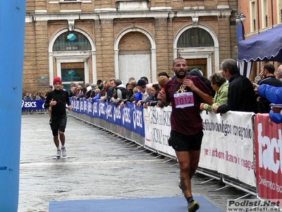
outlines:
[{"label": "bearded man running in maroon shirt with bib 1012", "polygon": [[212,105],[212,93],[197,76],[186,76],[188,66],[182,57],[174,59],[172,70],[176,78],[166,82],[158,99],[164,106],[171,103],[169,145],[176,151],[180,166],[178,186],[188,201],[188,212],[192,212],[200,208],[191,191],[191,178],[198,167],[203,136],[200,103]]}]

